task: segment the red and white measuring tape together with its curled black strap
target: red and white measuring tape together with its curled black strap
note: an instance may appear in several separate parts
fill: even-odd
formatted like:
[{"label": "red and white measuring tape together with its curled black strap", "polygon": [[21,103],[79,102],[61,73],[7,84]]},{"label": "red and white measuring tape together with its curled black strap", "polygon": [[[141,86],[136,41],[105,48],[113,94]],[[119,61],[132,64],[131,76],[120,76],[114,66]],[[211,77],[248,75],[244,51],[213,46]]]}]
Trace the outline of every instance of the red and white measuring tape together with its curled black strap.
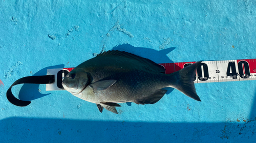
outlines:
[{"label": "red and white measuring tape together with its curled black strap", "polygon": [[[195,62],[165,63],[159,64],[165,68],[165,73],[170,74],[183,69]],[[12,94],[12,87],[17,84],[33,83],[46,84],[46,91],[64,90],[62,79],[74,68],[48,69],[47,75],[26,76],[13,82],[6,92],[6,97],[10,103],[16,106],[27,106],[31,101],[17,99]],[[204,61],[197,68],[195,83],[241,81],[256,79],[256,59],[229,60],[229,61]]]}]

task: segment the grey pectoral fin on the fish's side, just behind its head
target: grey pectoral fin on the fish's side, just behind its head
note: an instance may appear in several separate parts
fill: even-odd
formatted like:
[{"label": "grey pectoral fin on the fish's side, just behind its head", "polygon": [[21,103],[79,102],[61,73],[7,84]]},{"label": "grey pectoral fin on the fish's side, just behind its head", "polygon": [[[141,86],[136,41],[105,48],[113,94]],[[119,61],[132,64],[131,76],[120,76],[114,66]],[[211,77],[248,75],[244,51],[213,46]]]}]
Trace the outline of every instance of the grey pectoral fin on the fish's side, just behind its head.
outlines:
[{"label": "grey pectoral fin on the fish's side, just behind its head", "polygon": [[113,84],[116,83],[116,81],[117,80],[114,80],[114,79],[102,80],[102,81],[94,82],[94,83],[90,84],[89,86],[91,88],[93,88],[94,92],[98,92],[98,91],[102,91],[102,90],[106,90],[106,89],[110,88]]}]

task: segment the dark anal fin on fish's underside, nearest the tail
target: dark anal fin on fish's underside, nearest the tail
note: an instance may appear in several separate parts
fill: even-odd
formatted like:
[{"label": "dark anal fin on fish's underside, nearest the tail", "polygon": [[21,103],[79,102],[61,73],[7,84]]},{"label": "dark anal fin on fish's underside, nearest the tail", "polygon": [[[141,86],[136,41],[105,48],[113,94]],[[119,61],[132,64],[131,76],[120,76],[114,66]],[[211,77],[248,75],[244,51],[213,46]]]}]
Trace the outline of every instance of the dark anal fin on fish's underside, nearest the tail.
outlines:
[{"label": "dark anal fin on fish's underside, nearest the tail", "polygon": [[154,94],[147,96],[147,97],[143,97],[140,99],[137,99],[135,101],[136,104],[155,104],[157,103],[163,96],[164,94],[167,92],[167,90],[157,90]]}]

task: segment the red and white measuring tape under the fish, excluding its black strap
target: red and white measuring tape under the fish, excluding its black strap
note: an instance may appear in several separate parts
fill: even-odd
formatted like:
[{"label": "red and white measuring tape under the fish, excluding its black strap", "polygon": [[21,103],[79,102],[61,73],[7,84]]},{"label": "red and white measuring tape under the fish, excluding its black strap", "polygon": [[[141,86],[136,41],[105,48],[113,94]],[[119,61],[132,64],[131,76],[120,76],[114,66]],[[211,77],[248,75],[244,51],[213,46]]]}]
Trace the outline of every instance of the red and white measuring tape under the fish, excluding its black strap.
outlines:
[{"label": "red and white measuring tape under the fish, excluding its black strap", "polygon": [[[159,64],[170,74],[196,62]],[[62,79],[74,68],[48,69],[47,75],[55,75],[55,82],[46,84],[46,91],[64,90]],[[197,69],[195,83],[256,80],[256,59],[203,61]]]}]

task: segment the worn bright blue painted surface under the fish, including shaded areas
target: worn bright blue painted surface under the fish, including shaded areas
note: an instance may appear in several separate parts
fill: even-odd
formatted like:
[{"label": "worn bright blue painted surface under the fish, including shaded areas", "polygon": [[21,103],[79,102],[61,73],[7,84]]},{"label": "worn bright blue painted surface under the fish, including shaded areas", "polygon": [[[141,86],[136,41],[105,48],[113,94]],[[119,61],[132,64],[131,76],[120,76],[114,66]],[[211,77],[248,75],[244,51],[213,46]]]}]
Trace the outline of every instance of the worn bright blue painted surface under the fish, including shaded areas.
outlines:
[{"label": "worn bright blue painted surface under the fish, including shaded areas", "polygon": [[46,92],[45,85],[13,88],[16,97],[32,100],[27,107],[12,105],[5,93],[21,77],[75,67],[103,45],[129,43],[134,47],[119,49],[157,63],[255,59],[255,8],[254,1],[2,0],[0,140],[254,141],[256,81],[196,84],[202,102],[170,90],[154,105],[123,103],[119,115],[100,113],[66,91]]}]

